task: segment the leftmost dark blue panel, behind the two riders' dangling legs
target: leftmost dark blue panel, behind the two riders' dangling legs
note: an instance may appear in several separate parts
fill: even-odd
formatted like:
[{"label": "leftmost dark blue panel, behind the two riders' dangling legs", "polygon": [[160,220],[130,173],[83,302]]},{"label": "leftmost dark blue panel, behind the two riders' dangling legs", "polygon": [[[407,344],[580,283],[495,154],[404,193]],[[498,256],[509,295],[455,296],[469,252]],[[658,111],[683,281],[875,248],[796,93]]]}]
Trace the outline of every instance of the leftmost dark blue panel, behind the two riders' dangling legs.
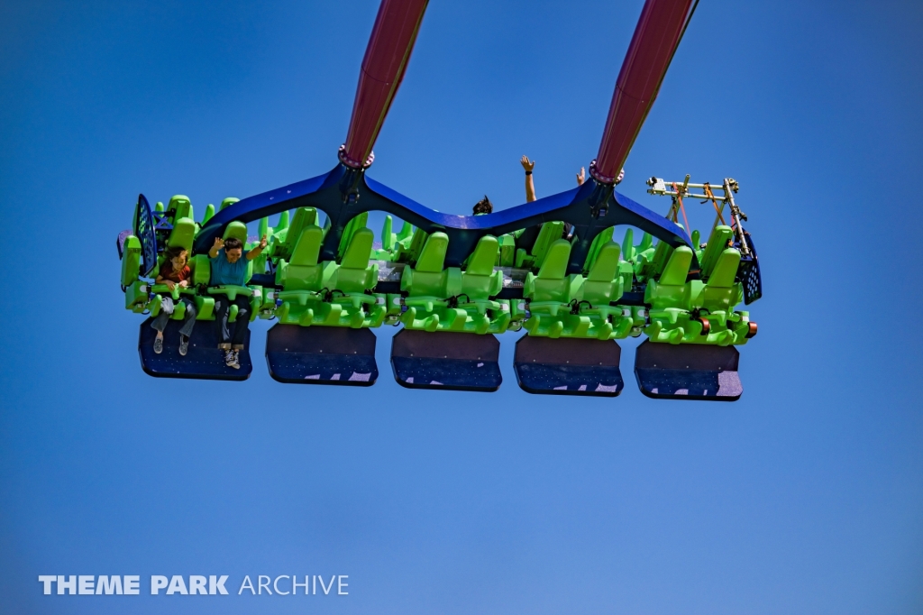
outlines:
[{"label": "leftmost dark blue panel, behind the two riders' dangling legs", "polygon": [[196,323],[189,338],[189,352],[179,354],[179,330],[182,320],[167,320],[163,330],[163,352],[154,352],[154,338],[157,332],[151,328],[153,319],[141,323],[138,333],[138,355],[141,368],[155,378],[195,378],[199,380],[246,380],[253,371],[250,362],[250,332],[246,332],[246,344],[240,351],[240,369],[224,364],[224,351],[218,347],[218,330],[214,322],[202,320]]}]

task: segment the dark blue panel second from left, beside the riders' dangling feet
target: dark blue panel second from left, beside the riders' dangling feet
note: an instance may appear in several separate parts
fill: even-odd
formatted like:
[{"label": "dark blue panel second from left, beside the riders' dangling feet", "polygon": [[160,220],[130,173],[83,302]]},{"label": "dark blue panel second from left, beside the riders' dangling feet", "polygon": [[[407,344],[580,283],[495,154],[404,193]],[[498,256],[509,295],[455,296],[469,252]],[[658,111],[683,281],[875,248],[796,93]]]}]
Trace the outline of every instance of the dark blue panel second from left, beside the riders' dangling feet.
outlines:
[{"label": "dark blue panel second from left, beside the riders' dangling feet", "polygon": [[273,380],[368,387],[378,380],[375,333],[344,327],[276,324],[266,334]]}]

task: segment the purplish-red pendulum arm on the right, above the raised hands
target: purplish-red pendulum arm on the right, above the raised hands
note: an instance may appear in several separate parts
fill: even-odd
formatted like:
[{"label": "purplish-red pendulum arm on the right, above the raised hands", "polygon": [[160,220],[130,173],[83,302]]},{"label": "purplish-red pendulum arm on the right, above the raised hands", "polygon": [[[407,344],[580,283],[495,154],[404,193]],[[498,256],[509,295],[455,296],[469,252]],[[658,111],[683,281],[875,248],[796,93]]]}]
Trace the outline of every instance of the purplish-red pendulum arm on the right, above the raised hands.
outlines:
[{"label": "purplish-red pendulum arm on the right, above the raised hands", "polygon": [[603,141],[590,174],[613,184],[651,110],[690,17],[692,0],[647,0],[618,73]]}]

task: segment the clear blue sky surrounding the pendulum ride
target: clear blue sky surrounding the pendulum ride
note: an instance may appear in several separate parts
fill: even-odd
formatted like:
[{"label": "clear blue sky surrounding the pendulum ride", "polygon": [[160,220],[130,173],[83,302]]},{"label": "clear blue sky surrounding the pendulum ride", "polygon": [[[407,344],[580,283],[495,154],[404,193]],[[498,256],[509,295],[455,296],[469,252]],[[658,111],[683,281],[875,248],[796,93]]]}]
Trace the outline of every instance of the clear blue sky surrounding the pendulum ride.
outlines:
[{"label": "clear blue sky surrounding the pendulum ride", "polygon": [[[0,6],[0,612],[923,612],[923,9],[702,0],[626,164],[740,182],[737,404],[153,380],[115,235],[324,173],[377,3]],[[641,1],[434,2],[370,175],[439,211],[573,186]],[[694,226],[711,223],[694,204]],[[348,574],[348,597],[236,596]],[[138,597],[39,574],[138,574]],[[229,574],[229,597],[150,597]]]}]

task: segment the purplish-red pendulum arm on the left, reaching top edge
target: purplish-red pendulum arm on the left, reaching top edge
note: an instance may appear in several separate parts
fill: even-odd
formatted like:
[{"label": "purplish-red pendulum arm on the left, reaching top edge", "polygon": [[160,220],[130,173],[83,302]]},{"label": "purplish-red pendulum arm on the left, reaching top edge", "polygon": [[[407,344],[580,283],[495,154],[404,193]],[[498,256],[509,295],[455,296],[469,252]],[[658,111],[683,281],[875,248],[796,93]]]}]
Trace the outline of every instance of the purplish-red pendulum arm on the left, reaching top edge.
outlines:
[{"label": "purplish-red pendulum arm on the left, reaching top edge", "polygon": [[353,117],[340,161],[359,169],[372,163],[372,146],[414,50],[428,0],[382,0],[359,72]]}]

